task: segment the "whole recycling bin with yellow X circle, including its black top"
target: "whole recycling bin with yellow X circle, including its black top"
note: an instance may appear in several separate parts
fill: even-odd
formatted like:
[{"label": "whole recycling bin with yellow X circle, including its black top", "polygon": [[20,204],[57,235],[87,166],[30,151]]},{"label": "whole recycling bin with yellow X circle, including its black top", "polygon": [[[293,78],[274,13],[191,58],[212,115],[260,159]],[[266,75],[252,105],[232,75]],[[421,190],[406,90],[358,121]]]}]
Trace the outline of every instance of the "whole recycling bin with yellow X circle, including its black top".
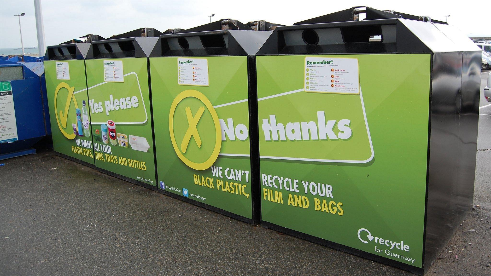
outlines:
[{"label": "whole recycling bin with yellow X circle, including its black top", "polygon": [[150,56],[159,192],[258,222],[256,102],[249,99],[256,97],[253,55],[270,35],[160,37]]}]

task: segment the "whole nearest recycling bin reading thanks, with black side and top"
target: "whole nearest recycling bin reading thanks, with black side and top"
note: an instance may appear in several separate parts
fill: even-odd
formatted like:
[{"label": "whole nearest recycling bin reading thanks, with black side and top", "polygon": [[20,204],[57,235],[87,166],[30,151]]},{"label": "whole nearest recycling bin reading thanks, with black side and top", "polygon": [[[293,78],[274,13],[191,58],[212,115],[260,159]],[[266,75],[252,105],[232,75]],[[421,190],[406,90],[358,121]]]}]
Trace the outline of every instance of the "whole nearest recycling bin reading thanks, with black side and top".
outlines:
[{"label": "whole nearest recycling bin reading thanks, with black side and top", "polygon": [[353,11],[257,54],[261,225],[423,274],[472,207],[481,54],[426,17]]}]

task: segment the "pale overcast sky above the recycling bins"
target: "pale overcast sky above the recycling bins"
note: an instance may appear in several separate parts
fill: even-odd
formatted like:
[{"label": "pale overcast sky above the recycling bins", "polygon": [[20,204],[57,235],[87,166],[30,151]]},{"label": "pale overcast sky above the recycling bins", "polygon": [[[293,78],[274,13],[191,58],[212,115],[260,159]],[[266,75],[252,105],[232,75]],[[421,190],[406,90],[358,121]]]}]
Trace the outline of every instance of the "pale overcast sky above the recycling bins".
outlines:
[{"label": "pale overcast sky above the recycling bins", "polygon": [[[438,1],[440,2],[440,1]],[[225,4],[226,3],[226,4]],[[256,5],[254,3],[257,3]],[[136,28],[191,28],[212,19],[231,18],[242,23],[266,20],[282,25],[317,17],[331,12],[367,5],[376,9],[392,9],[418,16],[430,16],[460,28],[464,33],[491,34],[489,0],[446,1],[208,1],[208,0],[41,0],[46,45],[99,34],[109,37]],[[25,47],[37,46],[33,0],[0,0],[0,48],[20,48],[19,22],[13,15],[25,12],[21,18]]]}]

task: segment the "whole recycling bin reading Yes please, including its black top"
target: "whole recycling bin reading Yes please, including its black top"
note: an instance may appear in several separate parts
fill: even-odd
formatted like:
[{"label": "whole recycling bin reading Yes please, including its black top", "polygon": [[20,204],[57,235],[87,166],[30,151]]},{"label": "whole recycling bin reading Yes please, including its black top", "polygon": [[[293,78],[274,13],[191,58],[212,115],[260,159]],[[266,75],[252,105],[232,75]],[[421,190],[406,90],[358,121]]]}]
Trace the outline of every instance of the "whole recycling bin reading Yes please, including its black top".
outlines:
[{"label": "whole recycling bin reading Yes please, including its black top", "polygon": [[156,190],[148,55],[157,37],[93,42],[85,64],[98,170]]}]

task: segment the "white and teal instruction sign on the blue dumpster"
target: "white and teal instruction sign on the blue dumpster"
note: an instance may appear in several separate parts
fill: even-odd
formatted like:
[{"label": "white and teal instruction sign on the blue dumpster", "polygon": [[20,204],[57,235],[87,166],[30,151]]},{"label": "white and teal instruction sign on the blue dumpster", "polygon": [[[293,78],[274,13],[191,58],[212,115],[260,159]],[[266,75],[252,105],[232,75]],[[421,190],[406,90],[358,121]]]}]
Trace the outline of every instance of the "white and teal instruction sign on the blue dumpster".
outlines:
[{"label": "white and teal instruction sign on the blue dumpster", "polygon": [[0,143],[18,139],[14,97],[10,82],[0,82]]}]

